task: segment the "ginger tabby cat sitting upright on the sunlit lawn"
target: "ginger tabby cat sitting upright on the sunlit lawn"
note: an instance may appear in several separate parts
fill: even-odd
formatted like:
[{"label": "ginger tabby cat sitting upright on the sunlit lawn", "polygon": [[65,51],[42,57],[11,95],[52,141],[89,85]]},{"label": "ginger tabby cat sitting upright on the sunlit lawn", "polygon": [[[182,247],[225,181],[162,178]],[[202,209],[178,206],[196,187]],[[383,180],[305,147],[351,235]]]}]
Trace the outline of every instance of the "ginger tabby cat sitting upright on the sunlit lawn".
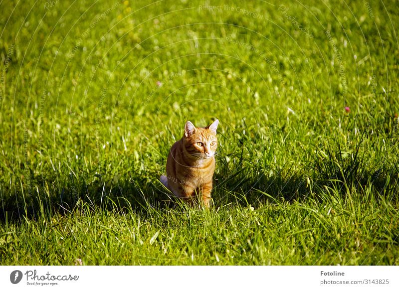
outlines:
[{"label": "ginger tabby cat sitting upright on the sunlit lawn", "polygon": [[218,124],[216,120],[206,128],[196,128],[187,121],[183,138],[169,152],[167,176],[160,178],[165,187],[186,201],[192,202],[196,193],[200,193],[205,207],[209,207],[212,190]]}]

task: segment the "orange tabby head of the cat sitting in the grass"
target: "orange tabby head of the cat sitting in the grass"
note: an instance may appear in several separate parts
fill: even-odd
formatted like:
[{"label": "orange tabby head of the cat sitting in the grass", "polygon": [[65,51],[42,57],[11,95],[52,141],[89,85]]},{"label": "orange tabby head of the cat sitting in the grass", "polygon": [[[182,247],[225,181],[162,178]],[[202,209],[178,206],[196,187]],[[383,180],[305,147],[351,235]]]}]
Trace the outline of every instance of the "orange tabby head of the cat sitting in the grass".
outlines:
[{"label": "orange tabby head of the cat sitting in the grass", "polygon": [[213,157],[217,148],[216,129],[219,120],[208,127],[196,128],[190,121],[184,126],[183,144],[186,152],[196,159]]}]

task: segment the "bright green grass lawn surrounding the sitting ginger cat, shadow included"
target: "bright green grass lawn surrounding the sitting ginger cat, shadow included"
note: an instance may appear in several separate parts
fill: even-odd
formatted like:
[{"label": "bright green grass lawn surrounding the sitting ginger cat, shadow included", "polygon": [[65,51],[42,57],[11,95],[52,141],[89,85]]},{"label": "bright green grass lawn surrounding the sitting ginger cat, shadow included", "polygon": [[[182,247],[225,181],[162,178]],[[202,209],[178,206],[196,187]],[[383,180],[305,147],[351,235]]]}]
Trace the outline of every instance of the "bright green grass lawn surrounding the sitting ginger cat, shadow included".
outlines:
[{"label": "bright green grass lawn surrounding the sitting ginger cat, shadow included", "polygon": [[[1,265],[399,263],[394,1],[50,3],[0,2]],[[215,118],[191,208],[158,179]]]}]

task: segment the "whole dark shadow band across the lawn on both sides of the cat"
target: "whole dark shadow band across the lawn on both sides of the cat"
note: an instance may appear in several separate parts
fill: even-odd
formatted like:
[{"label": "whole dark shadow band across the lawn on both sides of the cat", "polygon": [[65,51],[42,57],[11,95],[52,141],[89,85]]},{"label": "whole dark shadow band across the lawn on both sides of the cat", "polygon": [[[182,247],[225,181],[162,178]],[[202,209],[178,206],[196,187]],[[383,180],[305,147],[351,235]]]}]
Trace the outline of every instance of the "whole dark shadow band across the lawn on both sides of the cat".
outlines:
[{"label": "whole dark shadow band across the lawn on both sides of the cat", "polygon": [[[306,170],[313,172],[312,176],[292,172],[284,166],[273,172],[258,164],[246,168],[242,163],[237,163],[229,174],[219,170],[215,173],[212,192],[214,206],[231,203],[262,206],[266,200],[269,203],[276,200],[304,201],[309,194],[313,198],[322,199],[329,194],[330,189],[344,199],[348,192],[364,193],[368,188],[377,197],[387,192],[399,192],[398,163],[389,166],[384,161],[378,168],[366,169],[364,160],[359,157],[359,146],[353,152],[343,152],[339,144],[335,149],[328,147],[325,151],[316,150],[313,160],[313,164],[309,164],[310,168]],[[36,183],[36,192],[30,194],[12,188],[9,192],[13,194],[8,196],[0,192],[0,220],[18,222],[23,217],[37,219],[48,218],[54,213],[66,215],[82,204],[87,205],[85,210],[133,211],[143,217],[150,216],[154,209],[169,210],[183,206],[180,200],[171,197],[158,180],[151,181],[139,175],[118,176],[107,180],[97,175],[91,182],[86,182],[89,179],[85,177],[79,180],[79,183],[73,185],[65,180],[64,186],[51,194],[44,185],[39,186],[39,182]],[[398,194],[394,198],[397,202]]]}]

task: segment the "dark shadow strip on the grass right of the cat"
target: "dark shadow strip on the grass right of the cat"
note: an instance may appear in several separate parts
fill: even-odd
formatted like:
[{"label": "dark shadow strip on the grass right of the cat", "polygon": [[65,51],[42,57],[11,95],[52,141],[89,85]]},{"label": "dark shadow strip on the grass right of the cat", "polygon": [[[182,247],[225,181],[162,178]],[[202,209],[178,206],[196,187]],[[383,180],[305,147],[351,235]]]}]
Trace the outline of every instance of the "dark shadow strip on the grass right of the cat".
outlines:
[{"label": "dark shadow strip on the grass right of the cat", "polygon": [[[338,193],[344,200],[348,192],[363,194],[370,190],[377,198],[390,192],[399,192],[398,162],[389,166],[384,159],[376,168],[370,168],[359,155],[360,145],[349,152],[342,151],[339,143],[336,143],[335,148],[330,145],[324,150],[316,148],[313,163],[303,170],[312,172],[308,176],[292,172],[292,167],[282,166],[279,171],[273,172],[271,168],[255,166],[247,171],[238,164],[228,178],[223,179],[225,172],[216,175],[216,179],[223,181],[217,185],[213,197],[220,204],[237,202],[256,205],[266,200],[302,202],[310,194],[321,201],[331,191]],[[227,196],[225,193],[228,193]],[[395,202],[398,202],[398,197],[398,194],[393,195]]]}]

